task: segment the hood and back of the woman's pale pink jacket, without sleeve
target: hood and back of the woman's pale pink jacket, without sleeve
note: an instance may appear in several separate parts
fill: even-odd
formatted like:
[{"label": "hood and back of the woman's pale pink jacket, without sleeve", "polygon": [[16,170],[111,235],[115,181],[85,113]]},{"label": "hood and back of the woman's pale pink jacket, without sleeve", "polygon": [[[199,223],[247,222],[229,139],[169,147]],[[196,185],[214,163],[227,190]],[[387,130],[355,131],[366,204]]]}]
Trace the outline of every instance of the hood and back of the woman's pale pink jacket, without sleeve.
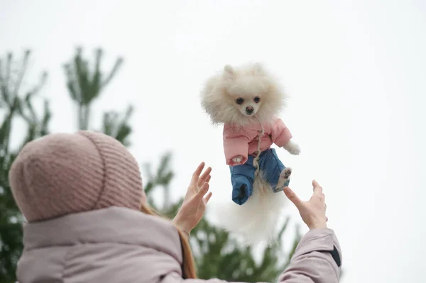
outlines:
[{"label": "hood and back of the woman's pale pink jacket, without sleeve", "polygon": [[[182,246],[171,221],[111,206],[25,223],[18,282],[158,282],[181,274]],[[53,282],[52,281],[52,282]]]}]

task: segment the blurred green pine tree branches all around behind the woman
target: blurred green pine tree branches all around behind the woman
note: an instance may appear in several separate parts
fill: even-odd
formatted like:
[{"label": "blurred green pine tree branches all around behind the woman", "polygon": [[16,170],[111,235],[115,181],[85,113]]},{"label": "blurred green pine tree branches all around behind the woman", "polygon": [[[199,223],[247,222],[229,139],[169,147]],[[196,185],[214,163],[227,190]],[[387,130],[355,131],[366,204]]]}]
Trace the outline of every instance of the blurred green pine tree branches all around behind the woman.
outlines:
[{"label": "blurred green pine tree branches all around behind the woman", "polygon": [[[49,101],[43,101],[43,111],[40,114],[35,111],[34,102],[39,101],[37,96],[46,82],[47,73],[43,72],[40,82],[32,89],[24,91],[21,89],[23,77],[26,74],[27,63],[31,52],[26,51],[18,70],[14,66],[13,55],[6,55],[6,60],[0,60],[0,111],[3,115],[0,128],[0,283],[12,283],[16,281],[16,263],[22,253],[22,222],[23,216],[19,212],[8,182],[8,173],[19,150],[22,146],[35,138],[50,133],[48,126],[52,113]],[[116,111],[106,111],[102,117],[102,128],[93,129],[91,109],[93,103],[102,95],[111,79],[119,71],[123,58],[117,58],[111,71],[102,71],[103,51],[95,50],[93,67],[89,60],[84,59],[82,49],[77,48],[72,59],[63,65],[67,79],[67,90],[76,106],[77,128],[83,130],[97,130],[113,136],[126,146],[130,145],[131,126],[129,118],[133,107],[128,106],[123,114]],[[25,95],[21,95],[21,94]],[[23,121],[26,123],[27,132],[21,143],[13,149],[11,141],[13,123]],[[20,129],[21,131],[21,129]],[[166,152],[160,157],[160,165],[153,173],[150,164],[143,166],[143,174],[146,174],[148,182],[145,184],[148,202],[165,217],[173,218],[177,213],[182,199],[169,203],[168,189],[174,177],[170,169],[172,154]],[[163,189],[163,205],[155,207],[153,192],[155,189]],[[157,201],[158,202],[158,201]],[[279,238],[285,233],[288,221],[281,229]],[[290,253],[283,252],[280,241],[266,248],[263,260],[256,264],[253,259],[253,250],[238,243],[226,231],[222,231],[212,225],[206,218],[192,231],[190,242],[197,262],[197,270],[200,278],[209,279],[218,277],[229,281],[238,282],[273,282],[278,274],[282,272],[295,246],[300,239],[297,234],[290,247]]]}]

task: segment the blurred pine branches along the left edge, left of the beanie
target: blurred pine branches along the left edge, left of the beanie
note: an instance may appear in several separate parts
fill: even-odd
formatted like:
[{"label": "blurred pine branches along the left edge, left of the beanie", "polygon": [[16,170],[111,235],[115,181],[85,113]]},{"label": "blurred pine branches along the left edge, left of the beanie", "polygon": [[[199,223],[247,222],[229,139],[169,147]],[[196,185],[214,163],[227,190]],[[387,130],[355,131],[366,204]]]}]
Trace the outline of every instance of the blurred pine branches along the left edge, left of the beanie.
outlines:
[{"label": "blurred pine branches along the left edge, left of the beanie", "polygon": [[[24,52],[21,62],[6,55],[0,60],[0,111],[3,121],[0,126],[0,282],[15,282],[15,270],[21,255],[23,217],[13,200],[8,182],[11,163],[22,146],[30,140],[48,133],[50,109],[44,101],[44,109],[38,115],[33,107],[33,98],[45,84],[47,73],[43,72],[40,81],[31,89],[22,90],[31,52]],[[20,95],[21,93],[25,95]],[[11,144],[13,122],[21,118],[26,122],[26,135],[21,145]],[[22,131],[20,129],[20,131]]]}]

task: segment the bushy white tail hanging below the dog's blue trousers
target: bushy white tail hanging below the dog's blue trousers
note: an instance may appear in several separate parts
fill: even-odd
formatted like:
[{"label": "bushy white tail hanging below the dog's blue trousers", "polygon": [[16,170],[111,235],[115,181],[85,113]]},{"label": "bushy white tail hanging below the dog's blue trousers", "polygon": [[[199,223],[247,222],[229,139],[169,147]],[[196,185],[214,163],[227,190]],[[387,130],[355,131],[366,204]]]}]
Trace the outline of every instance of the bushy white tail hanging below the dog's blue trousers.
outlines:
[{"label": "bushy white tail hanging below the dog's blue trousers", "polygon": [[274,193],[271,185],[259,176],[245,204],[222,204],[217,213],[219,226],[243,235],[247,244],[273,240],[285,200],[283,192]]}]

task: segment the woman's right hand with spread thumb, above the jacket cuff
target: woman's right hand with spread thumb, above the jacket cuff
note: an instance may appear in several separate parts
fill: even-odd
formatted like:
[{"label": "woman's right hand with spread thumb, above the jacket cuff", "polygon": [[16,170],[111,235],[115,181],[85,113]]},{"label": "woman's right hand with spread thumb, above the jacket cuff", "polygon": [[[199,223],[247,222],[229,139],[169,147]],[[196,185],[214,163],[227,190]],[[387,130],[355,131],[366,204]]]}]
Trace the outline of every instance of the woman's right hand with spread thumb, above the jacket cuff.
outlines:
[{"label": "woman's right hand with spread thumb, above the jacket cuff", "polygon": [[312,181],[312,185],[314,187],[314,194],[312,194],[309,201],[301,201],[295,192],[288,187],[284,188],[284,193],[295,204],[300,212],[300,216],[302,216],[303,222],[306,223],[310,230],[327,228],[326,222],[328,218],[325,216],[327,204],[325,204],[322,187],[315,180]]}]

